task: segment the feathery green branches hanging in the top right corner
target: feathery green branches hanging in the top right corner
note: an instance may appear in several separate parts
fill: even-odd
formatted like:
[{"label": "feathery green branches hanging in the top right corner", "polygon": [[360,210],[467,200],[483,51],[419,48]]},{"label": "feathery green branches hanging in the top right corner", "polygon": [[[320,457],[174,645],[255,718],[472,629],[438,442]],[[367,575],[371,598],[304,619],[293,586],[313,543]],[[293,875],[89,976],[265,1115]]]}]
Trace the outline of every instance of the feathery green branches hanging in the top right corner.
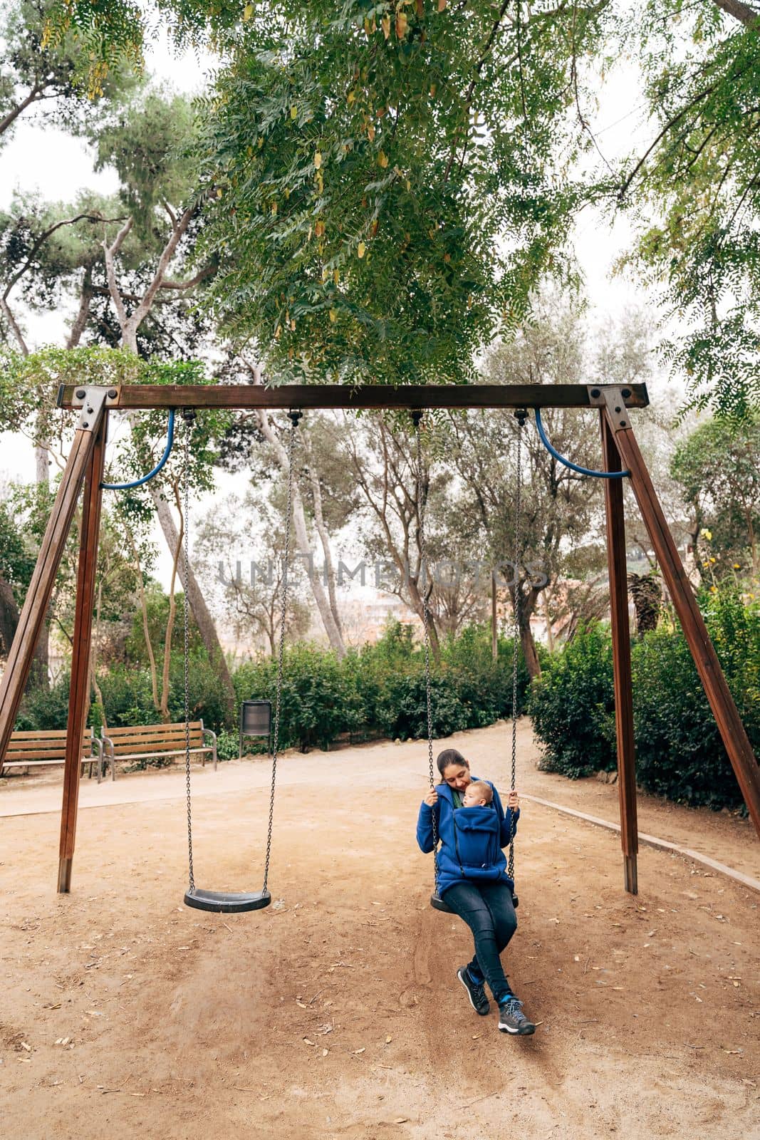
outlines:
[{"label": "feathery green branches hanging in the top right corner", "polygon": [[657,0],[627,38],[655,124],[619,190],[641,218],[634,260],[679,318],[668,355],[692,401],[746,416],[760,400],[760,5]]}]

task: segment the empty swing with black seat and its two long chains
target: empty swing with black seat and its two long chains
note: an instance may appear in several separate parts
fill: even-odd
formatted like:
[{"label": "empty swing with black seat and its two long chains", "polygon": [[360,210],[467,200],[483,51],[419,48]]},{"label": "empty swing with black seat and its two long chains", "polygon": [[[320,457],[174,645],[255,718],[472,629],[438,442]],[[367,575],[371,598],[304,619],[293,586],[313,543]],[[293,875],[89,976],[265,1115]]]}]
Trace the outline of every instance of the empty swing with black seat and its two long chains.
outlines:
[{"label": "empty swing with black seat and its two long chains", "polygon": [[297,427],[299,420],[301,418],[300,412],[288,412],[288,417],[291,420],[291,437],[288,441],[288,471],[287,471],[287,506],[285,511],[285,554],[284,554],[284,567],[283,567],[283,598],[280,606],[280,636],[279,636],[279,652],[277,658],[277,685],[276,685],[276,698],[275,698],[275,728],[272,733],[272,767],[271,767],[271,783],[269,791],[269,823],[267,828],[267,850],[264,855],[264,881],[261,890],[252,891],[223,891],[223,890],[202,890],[195,885],[195,872],[193,869],[193,805],[190,796],[190,709],[189,709],[189,670],[188,670],[188,603],[187,603],[187,584],[188,584],[188,568],[189,568],[189,526],[188,526],[188,512],[189,512],[189,442],[190,442],[190,431],[193,426],[193,420],[195,418],[195,413],[186,413],[185,417],[188,422],[188,427],[185,433],[185,459],[183,459],[183,499],[185,499],[185,559],[182,567],[182,577],[185,585],[185,598],[183,598],[183,620],[185,620],[185,643],[183,643],[183,661],[185,661],[185,779],[187,787],[187,849],[188,849],[188,889],[185,891],[185,903],[187,906],[194,906],[199,911],[215,911],[218,914],[237,914],[243,911],[260,911],[264,906],[269,906],[271,902],[271,895],[269,893],[267,882],[269,878],[269,858],[271,854],[272,845],[272,819],[275,814],[275,784],[277,780],[277,748],[279,743],[279,722],[280,722],[280,706],[281,706],[281,694],[283,694],[283,662],[284,662],[284,651],[285,651],[285,617],[287,612],[287,585],[288,585],[288,563],[291,554],[291,507],[293,500],[293,448],[295,443],[295,429]]}]

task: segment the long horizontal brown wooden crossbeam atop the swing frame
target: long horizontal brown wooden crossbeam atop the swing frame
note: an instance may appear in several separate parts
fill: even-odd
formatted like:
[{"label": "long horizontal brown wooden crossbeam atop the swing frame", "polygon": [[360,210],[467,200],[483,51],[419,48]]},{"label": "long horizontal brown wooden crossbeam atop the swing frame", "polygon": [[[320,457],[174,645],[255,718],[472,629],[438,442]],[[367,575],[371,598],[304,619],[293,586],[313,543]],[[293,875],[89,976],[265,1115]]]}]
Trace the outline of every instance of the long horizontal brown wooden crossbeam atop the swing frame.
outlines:
[{"label": "long horizontal brown wooden crossbeam atop the swing frame", "polygon": [[[590,385],[595,391],[605,386]],[[620,385],[615,385],[620,391]],[[83,388],[64,384],[59,408],[80,408]],[[92,391],[92,389],[89,389]],[[627,407],[645,408],[646,384],[623,388]],[[588,408],[588,384],[121,384],[107,389],[109,408]],[[624,394],[628,393],[628,394]]]}]

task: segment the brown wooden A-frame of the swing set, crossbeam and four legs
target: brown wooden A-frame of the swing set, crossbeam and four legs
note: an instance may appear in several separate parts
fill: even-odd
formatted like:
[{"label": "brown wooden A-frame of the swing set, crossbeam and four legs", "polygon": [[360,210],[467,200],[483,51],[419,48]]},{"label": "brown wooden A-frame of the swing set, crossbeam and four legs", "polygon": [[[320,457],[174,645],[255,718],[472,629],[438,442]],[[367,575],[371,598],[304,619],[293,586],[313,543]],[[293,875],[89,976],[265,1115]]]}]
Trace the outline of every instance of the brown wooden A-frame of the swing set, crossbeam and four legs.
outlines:
[{"label": "brown wooden A-frame of the swing set, crossbeam and four legs", "polygon": [[[368,384],[362,388],[319,384],[289,384],[279,388],[243,384],[62,386],[58,392],[58,407],[80,409],[80,420],[0,684],[1,773],[74,511],[80,492],[84,488],[60,817],[58,891],[68,893],[72,883],[81,743],[90,703],[90,638],[111,410],[212,407],[301,410],[394,408],[418,413],[423,408],[514,408],[523,414],[532,409],[541,438],[547,447],[550,447],[542,432],[541,408],[597,408],[604,471],[585,473],[602,475],[605,487],[618,788],[626,890],[631,894],[637,893],[638,829],[623,477],[630,479],[700,679],[750,816],[760,836],[760,769],[631,427],[628,409],[644,408],[648,402],[645,384],[426,384],[399,388],[379,384]],[[562,459],[562,456],[551,450]]]}]

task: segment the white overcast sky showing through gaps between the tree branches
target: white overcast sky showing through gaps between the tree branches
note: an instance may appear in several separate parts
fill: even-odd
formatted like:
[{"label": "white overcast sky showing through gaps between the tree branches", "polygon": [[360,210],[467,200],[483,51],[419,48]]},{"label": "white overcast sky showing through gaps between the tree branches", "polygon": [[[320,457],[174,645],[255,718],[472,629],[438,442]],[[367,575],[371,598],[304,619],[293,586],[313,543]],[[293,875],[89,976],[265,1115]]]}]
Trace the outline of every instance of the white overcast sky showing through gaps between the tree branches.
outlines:
[{"label": "white overcast sky showing through gaps between the tree branches", "polygon": [[[149,47],[148,71],[189,95],[202,89],[204,75],[212,66],[211,57],[198,58],[193,54],[177,56],[163,34]],[[605,78],[604,88],[599,87],[599,106],[602,109],[591,116],[591,121],[599,148],[608,161],[632,148],[646,147],[651,125],[643,119],[641,92],[630,65],[621,64]],[[92,154],[81,140],[63,131],[42,130],[30,121],[22,122],[0,155],[0,207],[8,205],[15,189],[36,189],[46,198],[67,201],[83,188],[113,192],[117,188],[115,172],[105,170],[96,173]],[[586,279],[593,324],[610,316],[619,317],[627,308],[638,308],[643,303],[652,306],[652,300],[647,302],[638,283],[612,276],[613,263],[630,239],[624,219],[610,226],[599,211],[589,209],[580,215],[573,239]],[[30,341],[34,348],[60,343],[63,327],[60,317],[55,314],[34,316],[30,319]],[[0,482],[33,479],[34,456],[28,442],[17,434],[0,434]],[[234,479],[222,477],[218,494],[226,494],[235,486],[240,489],[240,475]],[[212,502],[213,497],[209,497],[195,510],[203,512]],[[157,576],[167,585],[170,562],[169,556],[163,555],[163,542],[160,542],[158,548],[162,557]]]}]

